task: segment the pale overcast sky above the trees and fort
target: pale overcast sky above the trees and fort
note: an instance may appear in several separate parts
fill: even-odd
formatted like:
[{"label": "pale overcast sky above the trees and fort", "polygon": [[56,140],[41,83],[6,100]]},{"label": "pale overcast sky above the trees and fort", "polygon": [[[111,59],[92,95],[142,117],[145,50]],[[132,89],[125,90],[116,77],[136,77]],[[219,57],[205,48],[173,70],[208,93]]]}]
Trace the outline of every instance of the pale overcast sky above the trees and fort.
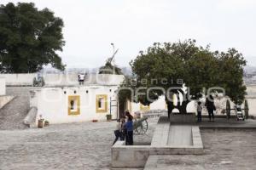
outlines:
[{"label": "pale overcast sky above the trees and fort", "polygon": [[64,20],[67,67],[97,67],[119,48],[115,63],[128,66],[153,42],[188,38],[212,50],[237,48],[256,66],[254,0],[1,0],[33,2]]}]

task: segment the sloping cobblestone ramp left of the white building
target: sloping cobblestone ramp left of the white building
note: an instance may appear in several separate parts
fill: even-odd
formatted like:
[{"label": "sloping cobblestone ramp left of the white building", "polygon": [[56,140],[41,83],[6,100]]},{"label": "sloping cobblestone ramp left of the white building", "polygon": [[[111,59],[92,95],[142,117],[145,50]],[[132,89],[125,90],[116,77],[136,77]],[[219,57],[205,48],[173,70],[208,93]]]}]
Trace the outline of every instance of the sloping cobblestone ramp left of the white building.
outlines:
[{"label": "sloping cobblestone ramp left of the white building", "polygon": [[23,119],[29,111],[29,90],[33,87],[7,87],[7,95],[15,96],[0,110],[0,130],[24,129]]}]

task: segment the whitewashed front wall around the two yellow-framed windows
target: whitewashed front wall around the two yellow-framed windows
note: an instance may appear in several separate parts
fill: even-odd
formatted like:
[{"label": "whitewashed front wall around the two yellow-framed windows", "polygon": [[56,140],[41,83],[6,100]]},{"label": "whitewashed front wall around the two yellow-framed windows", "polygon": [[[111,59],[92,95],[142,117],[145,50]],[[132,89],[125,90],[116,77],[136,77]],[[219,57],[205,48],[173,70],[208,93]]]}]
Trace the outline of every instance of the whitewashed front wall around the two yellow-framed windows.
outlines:
[{"label": "whitewashed front wall around the two yellow-framed windows", "polygon": [[[106,115],[110,113],[110,97],[115,99],[116,95],[114,91],[116,89],[117,86],[42,88],[32,91],[31,106],[38,107],[37,120],[40,118],[40,115],[42,115],[42,117],[50,123],[85,122],[93,119],[106,120]],[[98,95],[107,96],[106,111],[96,111],[96,97]],[[73,97],[79,97],[79,113],[70,113],[70,103],[68,99]],[[116,105],[116,103],[112,102],[112,105]],[[111,112],[113,119],[116,118],[117,108],[112,107]]]}]

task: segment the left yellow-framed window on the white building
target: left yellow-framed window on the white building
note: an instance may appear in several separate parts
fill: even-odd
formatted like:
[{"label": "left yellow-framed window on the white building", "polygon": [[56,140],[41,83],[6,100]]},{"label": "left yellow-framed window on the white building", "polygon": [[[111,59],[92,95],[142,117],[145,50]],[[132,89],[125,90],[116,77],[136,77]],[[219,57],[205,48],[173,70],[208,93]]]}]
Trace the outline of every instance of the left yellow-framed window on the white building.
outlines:
[{"label": "left yellow-framed window on the white building", "polygon": [[80,115],[80,96],[68,96],[68,115]]}]

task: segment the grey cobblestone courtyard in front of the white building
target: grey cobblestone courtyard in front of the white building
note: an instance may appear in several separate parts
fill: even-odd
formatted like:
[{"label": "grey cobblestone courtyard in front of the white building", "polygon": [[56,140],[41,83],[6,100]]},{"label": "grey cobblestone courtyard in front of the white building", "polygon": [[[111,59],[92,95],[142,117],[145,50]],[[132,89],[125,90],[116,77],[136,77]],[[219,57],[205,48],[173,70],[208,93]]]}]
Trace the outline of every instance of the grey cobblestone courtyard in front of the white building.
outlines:
[{"label": "grey cobblestone courtyard in front of the white building", "polygon": [[[150,143],[158,118],[136,143]],[[116,122],[50,125],[42,129],[0,131],[0,169],[109,169]]]}]

